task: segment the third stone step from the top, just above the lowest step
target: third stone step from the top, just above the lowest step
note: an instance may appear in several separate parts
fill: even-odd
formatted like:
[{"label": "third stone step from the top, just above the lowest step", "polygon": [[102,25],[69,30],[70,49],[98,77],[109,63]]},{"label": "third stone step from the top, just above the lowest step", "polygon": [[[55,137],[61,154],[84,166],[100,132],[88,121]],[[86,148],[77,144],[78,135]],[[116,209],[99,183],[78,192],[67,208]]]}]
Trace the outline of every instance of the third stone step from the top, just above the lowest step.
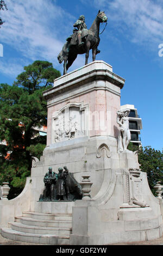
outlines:
[{"label": "third stone step from the top, just above the lowest step", "polygon": [[72,228],[58,228],[58,227],[36,227],[32,225],[25,225],[19,222],[9,223],[12,230],[21,231],[24,233],[43,234],[43,235],[64,235],[67,238],[72,233]]}]

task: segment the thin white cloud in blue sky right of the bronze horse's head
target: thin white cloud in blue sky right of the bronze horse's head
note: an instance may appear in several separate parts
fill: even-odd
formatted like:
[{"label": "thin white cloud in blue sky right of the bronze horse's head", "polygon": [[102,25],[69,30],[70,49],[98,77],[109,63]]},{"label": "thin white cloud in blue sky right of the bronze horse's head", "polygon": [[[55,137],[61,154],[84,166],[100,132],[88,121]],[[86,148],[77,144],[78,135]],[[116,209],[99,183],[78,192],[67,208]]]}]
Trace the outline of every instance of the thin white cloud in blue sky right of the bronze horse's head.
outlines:
[{"label": "thin white cloud in blue sky right of the bronze horse's head", "polygon": [[163,5],[160,0],[94,0],[96,7],[105,10],[114,29],[125,33],[137,44],[151,46],[163,38]]}]

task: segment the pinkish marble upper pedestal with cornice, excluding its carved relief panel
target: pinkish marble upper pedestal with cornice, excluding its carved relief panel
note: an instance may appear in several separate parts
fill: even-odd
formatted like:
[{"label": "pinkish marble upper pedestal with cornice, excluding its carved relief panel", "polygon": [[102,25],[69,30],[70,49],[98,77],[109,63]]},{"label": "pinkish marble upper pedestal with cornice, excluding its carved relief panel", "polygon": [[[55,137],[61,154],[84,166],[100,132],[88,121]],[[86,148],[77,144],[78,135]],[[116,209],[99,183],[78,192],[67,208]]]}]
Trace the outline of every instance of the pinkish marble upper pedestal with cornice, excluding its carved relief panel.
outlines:
[{"label": "pinkish marble upper pedestal with cornice, excluding its carved relief panel", "polygon": [[54,87],[43,93],[48,108],[47,145],[55,143],[53,120],[71,106],[85,106],[85,136],[117,138],[116,111],[120,109],[123,85],[124,79],[114,74],[109,64],[99,60],[57,78]]}]

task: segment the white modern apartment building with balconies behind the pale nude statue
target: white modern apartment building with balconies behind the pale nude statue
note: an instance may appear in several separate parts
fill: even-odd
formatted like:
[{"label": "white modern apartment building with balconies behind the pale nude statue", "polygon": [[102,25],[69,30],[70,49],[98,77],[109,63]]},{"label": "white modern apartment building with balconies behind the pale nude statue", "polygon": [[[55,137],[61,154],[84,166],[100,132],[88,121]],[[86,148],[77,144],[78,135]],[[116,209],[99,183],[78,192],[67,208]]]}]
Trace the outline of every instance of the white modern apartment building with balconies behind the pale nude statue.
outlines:
[{"label": "white modern apartment building with balconies behind the pale nude statue", "polygon": [[123,105],[121,109],[130,109],[129,117],[129,130],[131,133],[131,141],[134,145],[141,146],[140,130],[142,129],[142,119],[137,113],[137,108],[134,105]]}]

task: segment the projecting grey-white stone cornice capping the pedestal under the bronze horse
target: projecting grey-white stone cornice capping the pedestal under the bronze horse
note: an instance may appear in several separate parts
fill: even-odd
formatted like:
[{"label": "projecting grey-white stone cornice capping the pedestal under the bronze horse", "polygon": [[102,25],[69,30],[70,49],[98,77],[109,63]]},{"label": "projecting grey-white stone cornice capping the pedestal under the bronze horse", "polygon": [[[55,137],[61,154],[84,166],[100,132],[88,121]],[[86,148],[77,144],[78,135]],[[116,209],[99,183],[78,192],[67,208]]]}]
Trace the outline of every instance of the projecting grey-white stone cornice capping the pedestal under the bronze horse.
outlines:
[{"label": "projecting grey-white stone cornice capping the pedestal under the bronze horse", "polygon": [[54,87],[43,92],[43,96],[48,100],[52,94],[58,95],[73,87],[81,87],[86,83],[98,80],[108,81],[120,89],[123,88],[125,82],[124,78],[112,72],[112,67],[109,64],[102,60],[96,60],[54,80]]}]

